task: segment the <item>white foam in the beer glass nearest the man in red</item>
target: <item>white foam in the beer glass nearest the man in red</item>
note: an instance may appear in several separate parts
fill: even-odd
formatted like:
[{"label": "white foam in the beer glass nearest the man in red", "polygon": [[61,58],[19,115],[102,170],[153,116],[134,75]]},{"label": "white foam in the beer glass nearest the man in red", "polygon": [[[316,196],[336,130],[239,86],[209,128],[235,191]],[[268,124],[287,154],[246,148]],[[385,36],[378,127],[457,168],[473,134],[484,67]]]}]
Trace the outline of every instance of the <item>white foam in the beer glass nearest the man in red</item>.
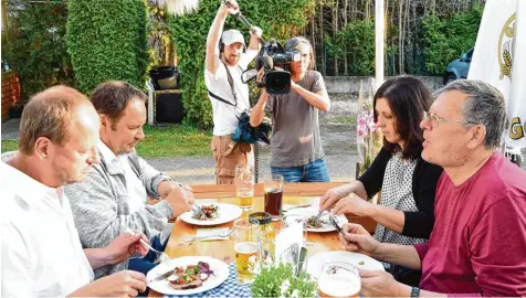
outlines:
[{"label": "white foam in the beer glass nearest the man in red", "polygon": [[348,273],[336,273],[330,276],[322,276],[318,280],[318,289],[325,295],[333,297],[358,296],[360,287],[360,278]]}]

